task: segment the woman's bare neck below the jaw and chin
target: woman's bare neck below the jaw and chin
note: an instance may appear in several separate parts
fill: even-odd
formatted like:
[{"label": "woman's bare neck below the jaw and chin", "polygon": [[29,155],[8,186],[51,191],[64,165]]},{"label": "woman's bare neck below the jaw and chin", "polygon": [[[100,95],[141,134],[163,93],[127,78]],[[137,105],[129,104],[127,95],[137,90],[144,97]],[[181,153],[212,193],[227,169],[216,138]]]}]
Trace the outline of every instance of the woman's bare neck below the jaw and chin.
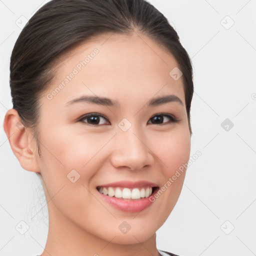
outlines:
[{"label": "woman's bare neck below the jaw and chin", "polygon": [[52,200],[48,201],[48,216],[48,236],[41,256],[159,255],[155,233],[143,242],[136,237],[136,242],[132,244],[115,243],[114,236],[109,237],[109,240],[104,240],[61,214]]}]

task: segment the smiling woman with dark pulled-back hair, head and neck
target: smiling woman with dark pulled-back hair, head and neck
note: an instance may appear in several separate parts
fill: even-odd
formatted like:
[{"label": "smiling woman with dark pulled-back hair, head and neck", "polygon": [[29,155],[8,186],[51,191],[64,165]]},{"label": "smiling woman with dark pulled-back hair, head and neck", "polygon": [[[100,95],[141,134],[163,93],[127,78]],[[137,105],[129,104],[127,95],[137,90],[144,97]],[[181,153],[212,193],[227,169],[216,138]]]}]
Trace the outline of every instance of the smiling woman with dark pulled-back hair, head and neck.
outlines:
[{"label": "smiling woman with dark pulled-back hair, head and neck", "polygon": [[47,201],[40,255],[175,255],[155,232],[183,184],[193,81],[168,20],[145,0],[52,0],[14,45],[10,88],[4,130]]}]

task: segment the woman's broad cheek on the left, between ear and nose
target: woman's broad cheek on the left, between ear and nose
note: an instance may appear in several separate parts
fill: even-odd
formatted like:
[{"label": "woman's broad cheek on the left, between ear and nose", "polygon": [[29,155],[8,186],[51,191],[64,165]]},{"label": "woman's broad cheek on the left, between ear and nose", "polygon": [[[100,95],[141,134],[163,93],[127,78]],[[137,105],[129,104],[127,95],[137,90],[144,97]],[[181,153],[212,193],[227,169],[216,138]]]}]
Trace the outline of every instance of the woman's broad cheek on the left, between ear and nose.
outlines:
[{"label": "woman's broad cheek on the left, between ear and nose", "polygon": [[[106,136],[101,139],[96,135],[68,132],[64,128],[51,129],[44,134],[40,140],[44,145],[41,146],[40,167],[53,207],[69,217],[77,212],[86,216],[88,205],[95,203],[89,183],[100,168],[97,153],[106,143]],[[86,210],[81,202],[86,202]]]}]

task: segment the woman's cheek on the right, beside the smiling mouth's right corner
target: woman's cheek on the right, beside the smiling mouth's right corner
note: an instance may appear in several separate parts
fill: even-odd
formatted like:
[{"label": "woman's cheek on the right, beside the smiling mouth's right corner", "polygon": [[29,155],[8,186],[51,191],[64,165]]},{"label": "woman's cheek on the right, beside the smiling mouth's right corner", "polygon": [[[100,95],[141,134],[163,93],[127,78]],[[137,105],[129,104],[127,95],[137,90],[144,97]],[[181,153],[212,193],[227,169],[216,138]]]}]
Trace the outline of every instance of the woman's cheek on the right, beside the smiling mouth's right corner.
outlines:
[{"label": "woman's cheek on the right, beside the smiling mouth's right corner", "polygon": [[158,137],[159,146],[155,150],[162,164],[162,183],[154,203],[158,204],[159,214],[165,220],[181,192],[186,171],[184,164],[190,155],[190,133],[181,127],[161,136]]}]

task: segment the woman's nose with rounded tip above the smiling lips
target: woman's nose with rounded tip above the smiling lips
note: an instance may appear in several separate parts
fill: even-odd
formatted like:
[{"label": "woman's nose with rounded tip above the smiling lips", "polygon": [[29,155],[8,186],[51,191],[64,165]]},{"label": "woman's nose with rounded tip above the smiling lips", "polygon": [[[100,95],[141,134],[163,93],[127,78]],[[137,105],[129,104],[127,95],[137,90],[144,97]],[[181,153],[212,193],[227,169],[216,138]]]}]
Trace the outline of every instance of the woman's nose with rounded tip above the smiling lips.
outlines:
[{"label": "woman's nose with rounded tip above the smiling lips", "polygon": [[153,152],[145,135],[132,129],[118,130],[114,136],[111,163],[115,168],[140,170],[153,164]]}]

